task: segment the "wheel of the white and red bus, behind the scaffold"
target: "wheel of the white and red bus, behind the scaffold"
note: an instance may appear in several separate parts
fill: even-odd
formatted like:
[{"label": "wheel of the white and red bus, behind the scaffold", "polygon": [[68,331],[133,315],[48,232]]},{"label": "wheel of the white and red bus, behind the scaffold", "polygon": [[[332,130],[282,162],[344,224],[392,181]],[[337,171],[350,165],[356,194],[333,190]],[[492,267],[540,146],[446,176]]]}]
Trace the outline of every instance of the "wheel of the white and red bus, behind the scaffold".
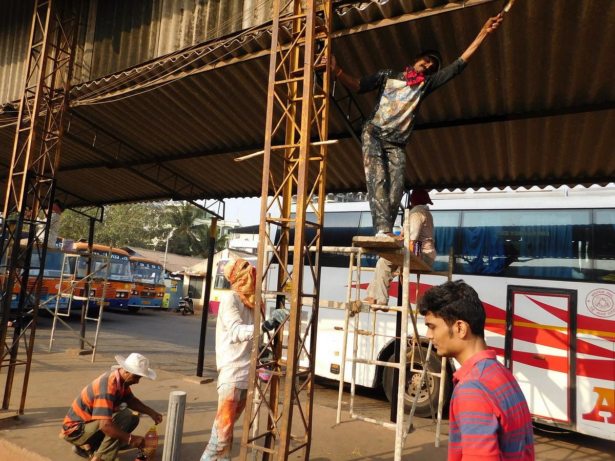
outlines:
[{"label": "wheel of the white and red bus, behind the scaffold", "polygon": [[[422,347],[422,349],[423,349],[423,357],[426,357],[427,348]],[[407,354],[408,366],[406,368],[406,388],[405,388],[405,392],[403,396],[406,414],[410,413],[410,409],[412,408],[412,403],[414,401],[414,398],[417,392],[419,380],[421,379],[420,373],[410,372],[411,353],[412,352],[410,350],[410,352],[408,352]],[[418,348],[415,348],[415,369],[422,370],[423,366],[421,365],[421,363],[417,363],[418,360],[420,360]],[[440,356],[436,355],[434,351],[432,351],[431,357],[429,357],[429,364],[428,364],[429,371],[439,373],[440,366],[441,366],[441,360],[442,359],[440,358]],[[391,354],[391,357],[389,357],[387,361],[393,362],[394,355]],[[386,397],[389,400],[389,402],[392,400],[392,394],[393,394],[393,371],[394,371],[394,368],[391,368],[388,366],[384,368],[384,371],[383,371],[384,393],[386,394]],[[425,378],[425,382],[423,382],[423,386],[419,392],[419,399],[416,404],[415,416],[418,416],[421,418],[431,416],[431,409],[430,409],[429,401],[431,401],[431,404],[434,408],[434,414],[435,414],[435,412],[437,412],[437,409],[438,409],[438,393],[439,392],[440,392],[440,378],[427,374]],[[451,380],[447,376],[445,377],[445,387],[444,387],[445,404],[446,404],[446,401],[448,401],[448,398],[450,397],[450,393],[451,393]]]}]

